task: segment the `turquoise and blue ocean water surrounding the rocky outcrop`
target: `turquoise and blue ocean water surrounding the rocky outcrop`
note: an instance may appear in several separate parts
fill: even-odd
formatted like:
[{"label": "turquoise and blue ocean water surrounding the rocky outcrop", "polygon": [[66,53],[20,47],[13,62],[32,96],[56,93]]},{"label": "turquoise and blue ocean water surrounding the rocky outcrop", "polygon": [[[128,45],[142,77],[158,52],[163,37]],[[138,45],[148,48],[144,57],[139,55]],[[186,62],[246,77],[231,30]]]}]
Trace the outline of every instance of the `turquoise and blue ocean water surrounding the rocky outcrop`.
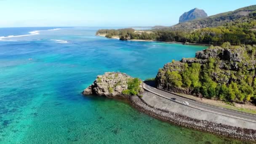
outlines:
[{"label": "turquoise and blue ocean water surrounding the rocky outcrop", "polygon": [[144,80],[205,48],[107,39],[97,29],[0,28],[0,144],[243,143],[156,120],[125,101],[83,96],[104,72]]}]

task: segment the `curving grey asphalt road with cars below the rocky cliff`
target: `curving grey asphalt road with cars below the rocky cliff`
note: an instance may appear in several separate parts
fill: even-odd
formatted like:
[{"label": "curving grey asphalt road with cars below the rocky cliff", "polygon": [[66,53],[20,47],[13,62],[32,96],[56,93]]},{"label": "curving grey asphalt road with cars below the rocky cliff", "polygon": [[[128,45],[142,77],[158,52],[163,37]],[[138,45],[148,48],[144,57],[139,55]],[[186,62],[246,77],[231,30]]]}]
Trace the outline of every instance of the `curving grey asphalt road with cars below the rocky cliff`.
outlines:
[{"label": "curving grey asphalt road with cars below the rocky cliff", "polygon": [[[213,112],[216,114],[221,114],[221,115],[227,115],[227,116],[231,116],[231,117],[236,117],[239,119],[243,119],[243,120],[248,120],[251,121],[253,123],[256,123],[256,115],[253,114],[248,114],[248,113],[244,113],[244,112],[238,112],[235,110],[231,110],[231,109],[225,109],[222,107],[216,107],[213,105],[209,105],[209,104],[204,104],[192,99],[187,99],[185,97],[181,97],[160,89],[155,88],[155,83],[154,82],[145,82],[144,83],[144,89],[146,91],[149,91],[151,93],[157,94],[157,96],[161,96],[164,97],[165,99],[169,99],[171,101],[176,101],[179,103],[182,103],[184,101],[187,101],[189,103],[189,106],[191,107],[195,107],[197,109],[202,109],[208,112]],[[173,98],[175,98],[175,100],[173,100]]]}]

